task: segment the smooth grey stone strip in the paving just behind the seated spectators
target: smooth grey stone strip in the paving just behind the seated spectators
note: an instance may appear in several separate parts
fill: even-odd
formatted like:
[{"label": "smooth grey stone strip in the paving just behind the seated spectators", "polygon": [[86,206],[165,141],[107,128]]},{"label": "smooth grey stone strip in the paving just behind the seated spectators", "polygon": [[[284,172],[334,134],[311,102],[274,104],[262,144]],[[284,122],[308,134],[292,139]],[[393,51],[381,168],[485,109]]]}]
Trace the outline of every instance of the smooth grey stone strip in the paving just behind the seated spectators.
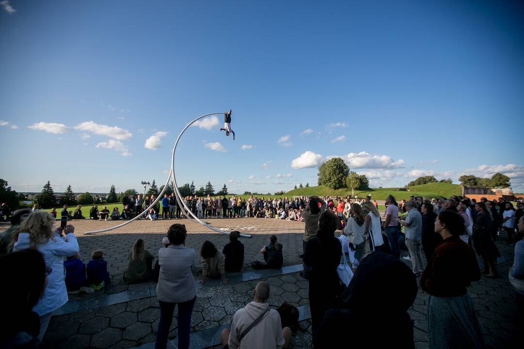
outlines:
[{"label": "smooth grey stone strip in the paving just behind the seated spectators", "polygon": [[[297,273],[301,272],[302,270],[302,264],[296,264],[283,266],[278,269],[261,269],[242,273],[231,273],[227,274],[227,277],[230,284],[237,284],[251,280],[263,279],[266,277]],[[222,280],[207,279],[205,285],[200,285],[200,280],[195,280],[195,285],[197,289],[217,287],[222,285]],[[115,294],[102,294],[95,298],[88,298],[82,301],[70,301],[65,303],[61,308],[55,310],[53,312],[53,316],[72,314],[80,311],[112,306],[118,303],[125,303],[141,298],[155,297],[157,295],[156,287],[156,284],[151,284],[149,287],[136,290],[127,290]]]}]

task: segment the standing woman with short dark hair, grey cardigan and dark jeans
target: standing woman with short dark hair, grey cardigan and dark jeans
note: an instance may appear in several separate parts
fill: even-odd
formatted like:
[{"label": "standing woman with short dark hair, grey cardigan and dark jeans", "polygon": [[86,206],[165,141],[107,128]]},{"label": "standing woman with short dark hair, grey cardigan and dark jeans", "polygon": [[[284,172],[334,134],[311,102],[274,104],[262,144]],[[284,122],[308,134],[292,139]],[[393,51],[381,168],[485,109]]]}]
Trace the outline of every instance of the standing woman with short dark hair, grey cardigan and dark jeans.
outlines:
[{"label": "standing woman with short dark hair, grey cardigan and dark jeans", "polygon": [[174,307],[178,304],[178,348],[189,348],[191,313],[196,299],[196,285],[191,272],[195,261],[195,251],[185,247],[187,231],[183,224],[169,227],[167,237],[169,246],[158,251],[160,274],[157,284],[157,297],[160,304],[155,349],[166,348],[169,327],[173,319]]}]

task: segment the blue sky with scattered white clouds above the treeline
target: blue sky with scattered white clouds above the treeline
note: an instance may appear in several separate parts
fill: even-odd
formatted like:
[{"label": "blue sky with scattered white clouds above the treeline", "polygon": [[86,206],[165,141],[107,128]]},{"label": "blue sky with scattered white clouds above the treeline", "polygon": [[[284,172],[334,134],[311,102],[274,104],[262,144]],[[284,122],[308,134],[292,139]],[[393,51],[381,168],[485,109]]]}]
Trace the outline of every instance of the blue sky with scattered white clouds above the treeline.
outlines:
[{"label": "blue sky with scattered white clouds above the treeline", "polygon": [[524,191],[521,2],[0,4],[18,191],[163,184],[185,124],[230,108],[235,141],[221,116],[185,132],[179,183],[289,190],[341,156],[372,186],[500,171]]}]

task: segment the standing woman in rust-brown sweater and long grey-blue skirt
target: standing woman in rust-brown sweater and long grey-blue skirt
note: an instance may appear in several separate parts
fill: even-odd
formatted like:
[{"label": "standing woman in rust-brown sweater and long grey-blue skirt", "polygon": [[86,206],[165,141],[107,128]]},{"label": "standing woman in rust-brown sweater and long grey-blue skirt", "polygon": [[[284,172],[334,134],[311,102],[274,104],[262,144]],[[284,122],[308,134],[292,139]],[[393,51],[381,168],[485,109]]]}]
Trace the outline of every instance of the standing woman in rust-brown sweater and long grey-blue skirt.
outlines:
[{"label": "standing woman in rust-brown sweater and long grey-blue skirt", "polygon": [[481,348],[484,341],[475,307],[466,287],[481,279],[471,247],[459,238],[464,232],[460,215],[442,211],[435,231],[444,240],[420,278],[428,292],[428,340],[430,348]]}]

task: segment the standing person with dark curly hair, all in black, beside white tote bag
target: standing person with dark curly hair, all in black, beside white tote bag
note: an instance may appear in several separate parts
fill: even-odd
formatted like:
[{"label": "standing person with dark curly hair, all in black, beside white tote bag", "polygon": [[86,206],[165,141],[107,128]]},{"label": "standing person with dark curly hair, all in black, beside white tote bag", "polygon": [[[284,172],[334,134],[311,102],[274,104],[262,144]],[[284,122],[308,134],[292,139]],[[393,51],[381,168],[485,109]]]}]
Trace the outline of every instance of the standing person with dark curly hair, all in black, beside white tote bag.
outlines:
[{"label": "standing person with dark curly hair, all in black, beside white tote bag", "polygon": [[342,245],[334,235],[336,226],[337,219],[333,212],[330,210],[322,212],[318,221],[318,233],[308,240],[304,251],[304,263],[311,268],[309,307],[313,346],[316,348],[321,347],[317,341],[320,321],[326,310],[335,306],[336,298],[341,292],[340,278],[336,269],[342,256]]}]

